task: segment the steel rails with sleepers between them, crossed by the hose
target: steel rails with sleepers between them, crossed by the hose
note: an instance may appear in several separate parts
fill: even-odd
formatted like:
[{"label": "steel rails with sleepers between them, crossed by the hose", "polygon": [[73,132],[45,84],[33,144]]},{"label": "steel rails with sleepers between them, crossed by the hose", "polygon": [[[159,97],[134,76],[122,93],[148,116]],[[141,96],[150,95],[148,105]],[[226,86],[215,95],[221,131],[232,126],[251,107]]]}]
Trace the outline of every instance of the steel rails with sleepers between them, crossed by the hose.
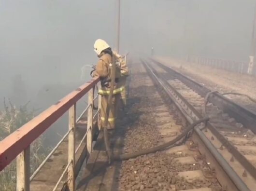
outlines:
[{"label": "steel rails with sleepers between them, crossed by the hose", "polygon": [[[165,89],[190,123],[205,115],[204,96],[210,90],[154,60],[143,63],[155,84]],[[212,161],[210,166],[223,188],[255,190],[256,115],[218,93],[210,95],[209,101],[205,110],[210,123],[206,129],[196,131],[194,143]],[[203,139],[213,150],[202,146]]]}]

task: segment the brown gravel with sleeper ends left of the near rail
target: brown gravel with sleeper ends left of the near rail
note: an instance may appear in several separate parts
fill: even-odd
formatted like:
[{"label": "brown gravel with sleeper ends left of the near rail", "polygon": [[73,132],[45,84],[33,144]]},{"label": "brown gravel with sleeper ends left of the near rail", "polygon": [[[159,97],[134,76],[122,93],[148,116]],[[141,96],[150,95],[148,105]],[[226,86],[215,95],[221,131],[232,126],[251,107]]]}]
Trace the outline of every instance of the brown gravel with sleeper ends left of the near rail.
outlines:
[{"label": "brown gravel with sleeper ends left of the near rail", "polygon": [[[168,142],[184,130],[184,120],[173,103],[156,91],[145,69],[136,65],[132,92],[141,102],[130,112],[142,115],[130,127],[124,152],[135,152]],[[120,165],[119,189],[123,191],[222,191],[222,187],[199,151],[187,139],[179,146],[124,161]],[[195,190],[197,191],[197,190]]]}]

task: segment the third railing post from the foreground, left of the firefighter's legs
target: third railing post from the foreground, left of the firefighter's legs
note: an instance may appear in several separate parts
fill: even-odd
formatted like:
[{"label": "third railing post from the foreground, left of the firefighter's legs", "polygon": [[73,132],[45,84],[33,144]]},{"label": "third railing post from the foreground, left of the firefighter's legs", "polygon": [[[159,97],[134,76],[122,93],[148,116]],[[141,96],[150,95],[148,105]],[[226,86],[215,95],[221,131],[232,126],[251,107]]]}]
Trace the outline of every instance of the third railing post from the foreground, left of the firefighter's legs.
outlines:
[{"label": "third railing post from the foreground, left of the firefighter's legs", "polygon": [[89,90],[89,94],[88,94],[88,104],[90,105],[87,110],[87,143],[86,143],[86,146],[87,146],[87,153],[88,153],[87,156],[88,157],[92,151],[93,91],[94,91],[94,87]]}]

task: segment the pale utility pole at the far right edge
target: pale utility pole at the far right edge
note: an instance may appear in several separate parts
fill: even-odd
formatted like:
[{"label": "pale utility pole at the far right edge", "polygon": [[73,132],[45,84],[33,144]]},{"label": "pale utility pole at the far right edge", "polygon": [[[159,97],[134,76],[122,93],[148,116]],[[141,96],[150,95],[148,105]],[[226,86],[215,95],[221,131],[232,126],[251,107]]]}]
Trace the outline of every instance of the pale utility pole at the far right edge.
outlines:
[{"label": "pale utility pole at the far right edge", "polygon": [[254,10],[254,21],[253,21],[253,33],[252,33],[252,42],[251,42],[251,55],[249,56],[250,62],[248,65],[247,73],[252,75],[253,69],[255,65],[255,53],[256,53],[256,3],[255,3],[255,10]]}]

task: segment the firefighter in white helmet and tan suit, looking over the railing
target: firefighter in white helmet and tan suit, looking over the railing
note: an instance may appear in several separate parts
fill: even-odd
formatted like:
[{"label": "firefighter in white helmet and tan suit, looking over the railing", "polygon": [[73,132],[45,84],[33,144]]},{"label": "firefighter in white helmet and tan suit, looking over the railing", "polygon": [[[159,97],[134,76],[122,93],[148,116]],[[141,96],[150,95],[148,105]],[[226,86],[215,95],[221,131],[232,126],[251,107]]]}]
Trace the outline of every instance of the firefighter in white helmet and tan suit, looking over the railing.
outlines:
[{"label": "firefighter in white helmet and tan suit, looking over the railing", "polygon": [[[101,88],[98,93],[101,95],[101,108],[100,108],[100,120],[101,126],[104,126],[104,120],[106,115],[106,108],[108,104],[108,95],[110,94],[110,82],[111,82],[111,65],[115,64],[115,59],[111,47],[106,41],[98,39],[94,43],[94,51],[97,53],[100,60],[98,61],[93,76],[100,77]],[[116,120],[116,100],[120,99],[120,93],[123,91],[120,80],[120,68],[116,67],[114,80],[114,91],[112,96],[112,105],[109,111],[107,129],[112,130],[115,128]]]}]

